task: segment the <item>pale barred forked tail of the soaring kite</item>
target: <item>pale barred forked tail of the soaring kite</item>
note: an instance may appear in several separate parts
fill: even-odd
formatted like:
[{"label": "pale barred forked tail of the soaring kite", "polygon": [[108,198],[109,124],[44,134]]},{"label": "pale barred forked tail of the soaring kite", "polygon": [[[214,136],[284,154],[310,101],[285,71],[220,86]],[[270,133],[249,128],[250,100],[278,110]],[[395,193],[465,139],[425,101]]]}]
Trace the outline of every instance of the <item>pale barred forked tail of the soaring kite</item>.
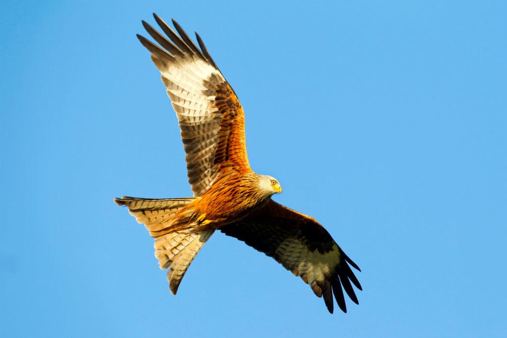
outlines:
[{"label": "pale barred forked tail of the soaring kite", "polygon": [[[151,200],[124,196],[115,198],[118,205],[129,208],[129,212],[144,223],[150,235],[155,238],[155,256],[160,269],[167,269],[167,280],[172,294],[176,294],[179,283],[187,272],[195,256],[206,243],[214,230],[193,232],[192,230],[173,230],[175,223],[190,222],[192,213],[178,212],[195,198],[174,198]],[[177,216],[177,217],[176,217]]]}]

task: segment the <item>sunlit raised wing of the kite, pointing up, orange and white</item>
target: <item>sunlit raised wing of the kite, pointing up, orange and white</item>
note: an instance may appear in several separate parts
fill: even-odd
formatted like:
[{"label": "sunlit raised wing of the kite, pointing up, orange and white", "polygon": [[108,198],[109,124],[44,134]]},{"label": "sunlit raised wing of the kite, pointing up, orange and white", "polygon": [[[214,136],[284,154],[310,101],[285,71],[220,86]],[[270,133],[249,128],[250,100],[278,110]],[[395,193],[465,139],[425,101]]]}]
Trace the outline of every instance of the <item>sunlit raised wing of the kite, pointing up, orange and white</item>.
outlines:
[{"label": "sunlit raised wing of the kite, pointing up, orange and white", "polygon": [[202,195],[222,172],[250,171],[246,156],[244,113],[196,33],[200,49],[174,20],[179,35],[153,14],[166,36],[148,23],[144,28],[160,47],[137,35],[152,52],[181,129],[189,183],[194,196]]}]

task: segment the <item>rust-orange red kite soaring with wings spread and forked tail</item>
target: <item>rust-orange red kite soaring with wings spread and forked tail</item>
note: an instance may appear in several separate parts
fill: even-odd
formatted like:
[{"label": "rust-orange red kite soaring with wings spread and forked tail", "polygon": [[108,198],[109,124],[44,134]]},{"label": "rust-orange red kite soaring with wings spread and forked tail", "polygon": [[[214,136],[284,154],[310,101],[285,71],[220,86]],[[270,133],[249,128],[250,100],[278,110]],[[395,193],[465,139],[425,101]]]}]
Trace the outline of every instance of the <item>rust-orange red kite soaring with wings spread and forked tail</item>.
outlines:
[{"label": "rust-orange red kite soaring with wings spread and forked tail", "polygon": [[[174,20],[175,32],[159,16],[166,36],[145,21],[157,44],[137,35],[151,53],[178,118],[193,197],[115,198],[144,223],[155,239],[155,256],[168,269],[176,294],[204,243],[220,230],[273,257],[301,277],[333,313],[333,294],[347,312],[343,290],[359,304],[352,284],[361,285],[350,266],[359,267],[312,217],[271,199],[277,179],[252,171],[246,155],[244,112],[236,93],[216,66],[201,37],[197,47]],[[342,289],[343,287],[343,289]]]}]

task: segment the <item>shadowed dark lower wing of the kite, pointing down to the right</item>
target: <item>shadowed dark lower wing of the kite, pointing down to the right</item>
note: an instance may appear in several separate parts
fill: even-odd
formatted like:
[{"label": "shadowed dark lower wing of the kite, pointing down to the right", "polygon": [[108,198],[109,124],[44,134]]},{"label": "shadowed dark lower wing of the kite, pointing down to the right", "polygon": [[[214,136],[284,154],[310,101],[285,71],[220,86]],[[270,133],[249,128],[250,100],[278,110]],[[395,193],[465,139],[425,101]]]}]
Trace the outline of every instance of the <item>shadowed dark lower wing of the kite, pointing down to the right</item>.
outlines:
[{"label": "shadowed dark lower wing of the kite, pointing down to the right", "polygon": [[359,267],[340,249],[331,235],[313,218],[270,201],[255,214],[220,229],[273,257],[324,297],[333,313],[333,293],[340,309],[347,312],[342,286],[359,304],[352,282],[362,290],[349,267]]}]

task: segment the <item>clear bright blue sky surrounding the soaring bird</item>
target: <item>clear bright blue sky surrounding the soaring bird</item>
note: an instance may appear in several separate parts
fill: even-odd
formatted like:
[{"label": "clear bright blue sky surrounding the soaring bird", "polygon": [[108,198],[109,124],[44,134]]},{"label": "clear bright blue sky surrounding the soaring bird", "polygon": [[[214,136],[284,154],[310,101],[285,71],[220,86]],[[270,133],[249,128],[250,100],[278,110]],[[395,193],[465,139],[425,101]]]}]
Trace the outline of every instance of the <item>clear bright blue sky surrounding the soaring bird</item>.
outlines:
[{"label": "clear bright blue sky surrounding the soaring bird", "polygon": [[[1,3],[3,337],[507,335],[505,2]],[[330,315],[216,233],[178,295],[114,197],[190,196],[152,12],[198,31],[252,168],[363,270]]]}]

